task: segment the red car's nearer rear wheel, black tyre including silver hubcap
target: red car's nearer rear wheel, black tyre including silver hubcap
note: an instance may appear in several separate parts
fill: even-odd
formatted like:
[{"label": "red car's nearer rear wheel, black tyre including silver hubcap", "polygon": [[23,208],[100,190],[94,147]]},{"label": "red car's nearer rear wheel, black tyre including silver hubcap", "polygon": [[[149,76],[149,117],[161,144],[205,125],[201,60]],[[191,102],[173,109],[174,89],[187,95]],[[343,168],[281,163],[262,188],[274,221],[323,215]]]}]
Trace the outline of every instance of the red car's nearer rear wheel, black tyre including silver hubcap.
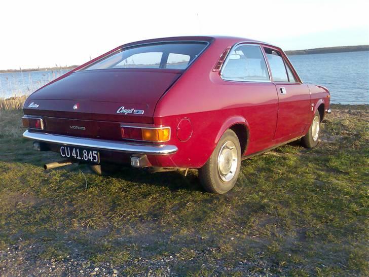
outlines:
[{"label": "red car's nearer rear wheel, black tyre including silver hubcap", "polygon": [[228,129],[220,137],[209,160],[199,169],[199,179],[206,191],[224,194],[236,184],[240,167],[240,142],[236,133]]}]

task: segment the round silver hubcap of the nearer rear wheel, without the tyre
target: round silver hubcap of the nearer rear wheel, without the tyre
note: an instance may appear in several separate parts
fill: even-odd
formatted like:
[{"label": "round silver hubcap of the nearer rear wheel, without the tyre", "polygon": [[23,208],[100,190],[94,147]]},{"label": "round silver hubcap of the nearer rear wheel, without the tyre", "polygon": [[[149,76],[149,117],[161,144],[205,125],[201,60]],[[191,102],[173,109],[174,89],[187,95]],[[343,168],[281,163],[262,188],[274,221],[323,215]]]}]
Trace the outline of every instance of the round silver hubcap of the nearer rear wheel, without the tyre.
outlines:
[{"label": "round silver hubcap of the nearer rear wheel, without the tyre", "polygon": [[218,155],[218,174],[223,182],[229,182],[235,176],[237,160],[235,144],[231,141],[225,142]]}]

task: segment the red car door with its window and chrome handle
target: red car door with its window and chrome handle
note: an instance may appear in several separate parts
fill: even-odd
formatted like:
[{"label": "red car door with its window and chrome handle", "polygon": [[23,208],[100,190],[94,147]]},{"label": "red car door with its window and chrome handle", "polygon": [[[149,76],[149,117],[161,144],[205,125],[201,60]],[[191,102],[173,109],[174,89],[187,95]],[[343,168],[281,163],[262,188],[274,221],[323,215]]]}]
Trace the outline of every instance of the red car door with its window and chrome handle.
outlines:
[{"label": "red car door with its window and chrome handle", "polygon": [[311,117],[309,87],[299,81],[281,51],[264,47],[272,80],[278,92],[278,119],[274,140],[288,141],[302,135]]}]

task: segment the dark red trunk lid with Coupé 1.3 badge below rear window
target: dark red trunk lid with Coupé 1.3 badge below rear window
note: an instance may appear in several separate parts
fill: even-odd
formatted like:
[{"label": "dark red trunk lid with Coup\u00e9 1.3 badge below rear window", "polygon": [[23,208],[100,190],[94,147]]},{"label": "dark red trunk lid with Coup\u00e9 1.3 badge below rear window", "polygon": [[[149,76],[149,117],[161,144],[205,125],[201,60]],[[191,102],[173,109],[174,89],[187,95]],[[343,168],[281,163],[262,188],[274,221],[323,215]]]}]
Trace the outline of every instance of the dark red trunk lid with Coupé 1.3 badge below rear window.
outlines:
[{"label": "dark red trunk lid with Coup\u00e9 1.3 badge below rear window", "polygon": [[156,103],[183,71],[76,72],[34,92],[25,114],[78,120],[153,123]]}]

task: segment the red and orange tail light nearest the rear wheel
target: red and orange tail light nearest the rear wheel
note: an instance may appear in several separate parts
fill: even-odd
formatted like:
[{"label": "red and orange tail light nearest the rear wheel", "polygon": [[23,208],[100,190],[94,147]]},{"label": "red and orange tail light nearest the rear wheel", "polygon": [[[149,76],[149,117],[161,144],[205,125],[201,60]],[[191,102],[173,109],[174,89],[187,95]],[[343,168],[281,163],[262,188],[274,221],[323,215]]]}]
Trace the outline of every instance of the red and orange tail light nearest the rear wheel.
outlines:
[{"label": "red and orange tail light nearest the rear wheel", "polygon": [[170,140],[170,127],[140,128],[121,126],[122,138],[144,142],[167,142]]}]

